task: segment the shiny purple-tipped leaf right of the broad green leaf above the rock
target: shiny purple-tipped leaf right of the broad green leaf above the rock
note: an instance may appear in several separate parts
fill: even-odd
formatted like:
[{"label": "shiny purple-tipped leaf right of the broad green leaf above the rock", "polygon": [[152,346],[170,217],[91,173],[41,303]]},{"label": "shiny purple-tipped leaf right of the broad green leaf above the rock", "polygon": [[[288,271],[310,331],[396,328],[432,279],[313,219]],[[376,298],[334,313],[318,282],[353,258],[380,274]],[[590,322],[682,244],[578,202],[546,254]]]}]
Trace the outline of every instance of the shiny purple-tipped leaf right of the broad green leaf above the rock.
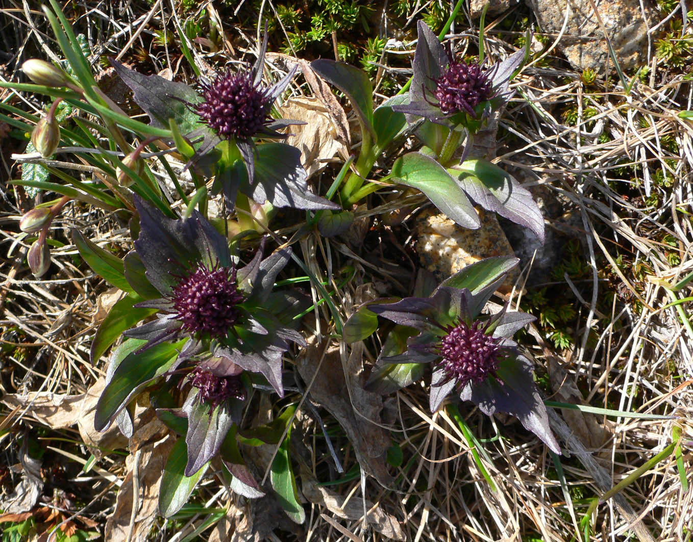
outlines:
[{"label": "shiny purple-tipped leaf right of the broad green leaf above the rock", "polygon": [[544,217],[529,190],[511,174],[482,159],[464,161],[448,172],[484,209],[525,226],[544,242]]}]

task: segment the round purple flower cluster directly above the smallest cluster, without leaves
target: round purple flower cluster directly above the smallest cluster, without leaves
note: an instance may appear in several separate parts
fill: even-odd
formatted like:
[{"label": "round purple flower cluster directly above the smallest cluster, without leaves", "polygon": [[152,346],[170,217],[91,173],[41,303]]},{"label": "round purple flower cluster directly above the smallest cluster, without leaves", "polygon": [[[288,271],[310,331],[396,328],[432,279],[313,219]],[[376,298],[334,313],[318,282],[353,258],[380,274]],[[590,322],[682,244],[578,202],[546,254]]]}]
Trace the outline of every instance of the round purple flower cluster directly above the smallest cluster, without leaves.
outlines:
[{"label": "round purple flower cluster directly above the smallest cluster, without leaves", "polygon": [[240,311],[236,305],[244,297],[238,291],[234,267],[209,270],[199,264],[173,289],[171,300],[177,311],[175,318],[183,323],[183,329],[222,338],[238,320]]}]

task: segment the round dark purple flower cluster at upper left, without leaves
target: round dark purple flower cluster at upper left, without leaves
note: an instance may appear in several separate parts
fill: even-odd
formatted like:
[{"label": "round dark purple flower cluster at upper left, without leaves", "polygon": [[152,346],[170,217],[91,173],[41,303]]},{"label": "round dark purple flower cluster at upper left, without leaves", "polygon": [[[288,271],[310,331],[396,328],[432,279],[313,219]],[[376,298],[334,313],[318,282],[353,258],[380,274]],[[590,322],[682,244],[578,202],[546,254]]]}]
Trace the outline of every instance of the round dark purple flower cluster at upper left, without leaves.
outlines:
[{"label": "round dark purple flower cluster at upper left, without leaves", "polygon": [[202,84],[202,89],[204,101],[195,110],[222,138],[252,137],[271,120],[270,90],[254,84],[249,71],[227,71],[211,84]]}]

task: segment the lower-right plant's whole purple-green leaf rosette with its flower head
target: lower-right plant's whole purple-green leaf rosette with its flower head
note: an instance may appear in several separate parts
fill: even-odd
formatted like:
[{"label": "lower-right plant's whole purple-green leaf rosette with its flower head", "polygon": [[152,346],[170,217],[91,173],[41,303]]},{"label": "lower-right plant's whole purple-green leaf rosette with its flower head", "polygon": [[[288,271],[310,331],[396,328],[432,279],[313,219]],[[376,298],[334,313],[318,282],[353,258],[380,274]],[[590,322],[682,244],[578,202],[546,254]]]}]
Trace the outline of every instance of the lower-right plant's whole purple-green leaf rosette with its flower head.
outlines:
[{"label": "lower-right plant's whole purple-green leaf rosette with its flower head", "polygon": [[[432,368],[432,412],[448,395],[473,401],[486,415],[502,412],[516,416],[552,451],[561,453],[534,384],[532,363],[512,340],[534,316],[507,311],[507,306],[495,314],[483,312],[505,280],[508,266],[504,261],[489,258],[475,264],[477,270],[484,269],[479,267],[484,264],[491,271],[482,282],[480,273],[463,270],[443,282],[430,297],[374,302],[360,310],[362,314],[356,320],[361,326],[371,325],[366,321],[367,314],[397,324],[383,344],[367,388],[392,392],[422,378],[428,365]],[[496,272],[491,269],[494,265]],[[498,273],[503,265],[505,270]],[[349,329],[349,323],[345,329]]]}]

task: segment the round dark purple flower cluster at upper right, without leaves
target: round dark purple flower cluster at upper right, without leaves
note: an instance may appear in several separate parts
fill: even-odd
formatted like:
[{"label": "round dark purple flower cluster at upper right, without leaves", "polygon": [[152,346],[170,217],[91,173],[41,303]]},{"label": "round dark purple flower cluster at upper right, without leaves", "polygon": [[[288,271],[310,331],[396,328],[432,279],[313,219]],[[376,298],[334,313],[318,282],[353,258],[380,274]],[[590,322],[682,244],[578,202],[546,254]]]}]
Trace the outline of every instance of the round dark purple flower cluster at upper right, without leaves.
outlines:
[{"label": "round dark purple flower cluster at upper right, without leaves", "polygon": [[436,80],[435,97],[444,114],[466,111],[475,116],[474,107],[493,98],[493,86],[489,73],[479,64],[450,62],[443,75]]}]

